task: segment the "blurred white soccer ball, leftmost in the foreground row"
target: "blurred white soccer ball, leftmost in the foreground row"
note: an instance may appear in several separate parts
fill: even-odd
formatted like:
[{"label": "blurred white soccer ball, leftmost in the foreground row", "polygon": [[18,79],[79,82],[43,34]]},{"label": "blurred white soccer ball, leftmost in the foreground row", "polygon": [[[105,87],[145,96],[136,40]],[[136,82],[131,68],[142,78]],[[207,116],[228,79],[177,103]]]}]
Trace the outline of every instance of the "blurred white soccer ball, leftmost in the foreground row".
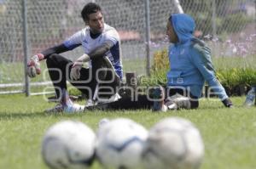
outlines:
[{"label": "blurred white soccer ball, leftmost in the foreground row", "polygon": [[95,157],[96,135],[79,121],[60,121],[45,132],[42,156],[54,169],[89,167]]}]

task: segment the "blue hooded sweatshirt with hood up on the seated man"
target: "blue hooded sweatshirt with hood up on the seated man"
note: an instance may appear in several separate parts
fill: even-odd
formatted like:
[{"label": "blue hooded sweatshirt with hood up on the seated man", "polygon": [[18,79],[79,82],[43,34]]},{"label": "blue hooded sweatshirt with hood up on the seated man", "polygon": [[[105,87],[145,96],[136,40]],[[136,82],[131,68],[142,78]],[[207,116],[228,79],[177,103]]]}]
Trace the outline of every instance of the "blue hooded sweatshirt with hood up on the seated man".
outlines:
[{"label": "blue hooded sweatshirt with hood up on the seated man", "polygon": [[224,87],[215,76],[210,48],[193,36],[195,20],[188,14],[172,14],[170,21],[178,42],[169,48],[171,69],[167,73],[168,86],[186,87],[193,96],[200,98],[207,81],[219,99],[227,99]]}]

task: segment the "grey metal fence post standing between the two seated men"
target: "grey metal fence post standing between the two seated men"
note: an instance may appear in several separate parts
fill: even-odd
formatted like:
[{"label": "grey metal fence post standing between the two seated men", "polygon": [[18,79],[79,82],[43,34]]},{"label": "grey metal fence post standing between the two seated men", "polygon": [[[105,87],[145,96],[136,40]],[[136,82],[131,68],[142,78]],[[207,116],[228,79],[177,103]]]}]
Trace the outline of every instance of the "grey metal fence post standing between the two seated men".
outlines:
[{"label": "grey metal fence post standing between the two seated men", "polygon": [[146,54],[147,54],[147,76],[150,76],[150,5],[149,0],[145,0],[146,17]]}]

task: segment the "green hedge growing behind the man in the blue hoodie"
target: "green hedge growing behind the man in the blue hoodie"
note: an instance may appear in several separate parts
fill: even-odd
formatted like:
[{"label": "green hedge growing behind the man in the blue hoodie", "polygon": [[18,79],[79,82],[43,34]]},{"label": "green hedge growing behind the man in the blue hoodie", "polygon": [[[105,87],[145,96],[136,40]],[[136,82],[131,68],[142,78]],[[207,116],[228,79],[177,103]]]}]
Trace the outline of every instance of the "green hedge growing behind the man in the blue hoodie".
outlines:
[{"label": "green hedge growing behind the man in the blue hoodie", "polygon": [[[232,60],[236,59],[230,58]],[[240,58],[237,58],[241,60]],[[223,59],[222,59],[223,61]],[[244,60],[246,61],[246,59]],[[230,60],[225,60],[226,65],[229,65]],[[255,63],[256,64],[256,63]],[[224,64],[225,65],[225,64]],[[169,60],[166,50],[159,51],[154,54],[154,63],[151,69],[151,76],[139,77],[139,85],[142,86],[153,86],[153,85],[166,85],[166,73],[170,70]],[[238,67],[238,68],[226,68],[218,67],[216,70],[216,76],[219,82],[226,88],[234,88],[237,86],[253,86],[256,85],[256,69],[253,67]]]}]

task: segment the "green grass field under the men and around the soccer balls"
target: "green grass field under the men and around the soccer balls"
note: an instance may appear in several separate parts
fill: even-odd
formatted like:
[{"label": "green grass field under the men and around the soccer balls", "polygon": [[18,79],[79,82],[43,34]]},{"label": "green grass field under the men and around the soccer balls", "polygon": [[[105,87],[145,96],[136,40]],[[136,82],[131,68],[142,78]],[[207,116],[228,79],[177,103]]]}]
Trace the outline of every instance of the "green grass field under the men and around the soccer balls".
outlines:
[{"label": "green grass field under the men and around the soccer balls", "polygon": [[[256,166],[256,107],[244,108],[244,97],[232,98],[236,107],[226,109],[216,99],[201,99],[198,110],[153,113],[150,110],[88,111],[83,114],[45,115],[54,106],[43,96],[0,97],[0,168],[46,169],[41,141],[47,128],[57,121],[83,121],[95,131],[103,117],[127,117],[150,128],[169,116],[180,116],[195,123],[201,131],[206,155],[202,169],[254,169]],[[83,102],[80,102],[83,104]],[[170,145],[171,146],[171,145]],[[97,162],[92,169],[102,168]]]}]

